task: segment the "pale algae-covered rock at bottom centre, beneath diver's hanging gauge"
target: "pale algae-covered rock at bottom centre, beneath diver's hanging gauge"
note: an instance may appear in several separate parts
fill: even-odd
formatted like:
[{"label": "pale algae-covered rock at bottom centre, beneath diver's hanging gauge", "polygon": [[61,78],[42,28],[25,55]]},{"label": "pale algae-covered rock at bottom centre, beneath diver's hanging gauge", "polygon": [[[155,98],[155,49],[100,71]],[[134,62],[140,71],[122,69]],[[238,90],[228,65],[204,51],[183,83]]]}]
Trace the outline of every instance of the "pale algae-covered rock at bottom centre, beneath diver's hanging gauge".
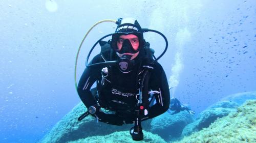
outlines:
[{"label": "pale algae-covered rock at bottom centre, beneath diver's hanging gauge", "polygon": [[104,135],[104,136],[91,136],[87,138],[81,138],[78,140],[74,141],[69,141],[68,143],[84,143],[84,142],[90,142],[90,143],[130,143],[130,142],[149,142],[149,143],[164,143],[165,141],[158,135],[152,134],[151,132],[143,131],[144,138],[141,141],[134,141],[132,139],[132,136],[130,135],[129,132],[126,131],[119,131],[119,132],[114,132],[109,135]]}]

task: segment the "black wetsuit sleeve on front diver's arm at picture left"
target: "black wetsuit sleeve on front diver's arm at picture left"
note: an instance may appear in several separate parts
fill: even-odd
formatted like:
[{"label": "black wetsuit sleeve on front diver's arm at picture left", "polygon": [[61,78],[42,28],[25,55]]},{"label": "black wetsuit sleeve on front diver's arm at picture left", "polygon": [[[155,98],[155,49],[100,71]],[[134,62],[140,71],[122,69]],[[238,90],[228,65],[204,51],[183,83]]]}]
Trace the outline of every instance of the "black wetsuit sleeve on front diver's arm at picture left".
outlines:
[{"label": "black wetsuit sleeve on front diver's arm at picture left", "polygon": [[[98,63],[100,62],[100,60],[100,55],[96,55],[90,62],[90,64]],[[92,95],[90,89],[93,83],[96,80],[99,80],[100,74],[101,70],[99,67],[87,67],[83,71],[82,76],[79,80],[77,92],[81,101],[84,105],[86,105],[87,108],[96,104],[96,99],[94,97],[95,95]]]}]

